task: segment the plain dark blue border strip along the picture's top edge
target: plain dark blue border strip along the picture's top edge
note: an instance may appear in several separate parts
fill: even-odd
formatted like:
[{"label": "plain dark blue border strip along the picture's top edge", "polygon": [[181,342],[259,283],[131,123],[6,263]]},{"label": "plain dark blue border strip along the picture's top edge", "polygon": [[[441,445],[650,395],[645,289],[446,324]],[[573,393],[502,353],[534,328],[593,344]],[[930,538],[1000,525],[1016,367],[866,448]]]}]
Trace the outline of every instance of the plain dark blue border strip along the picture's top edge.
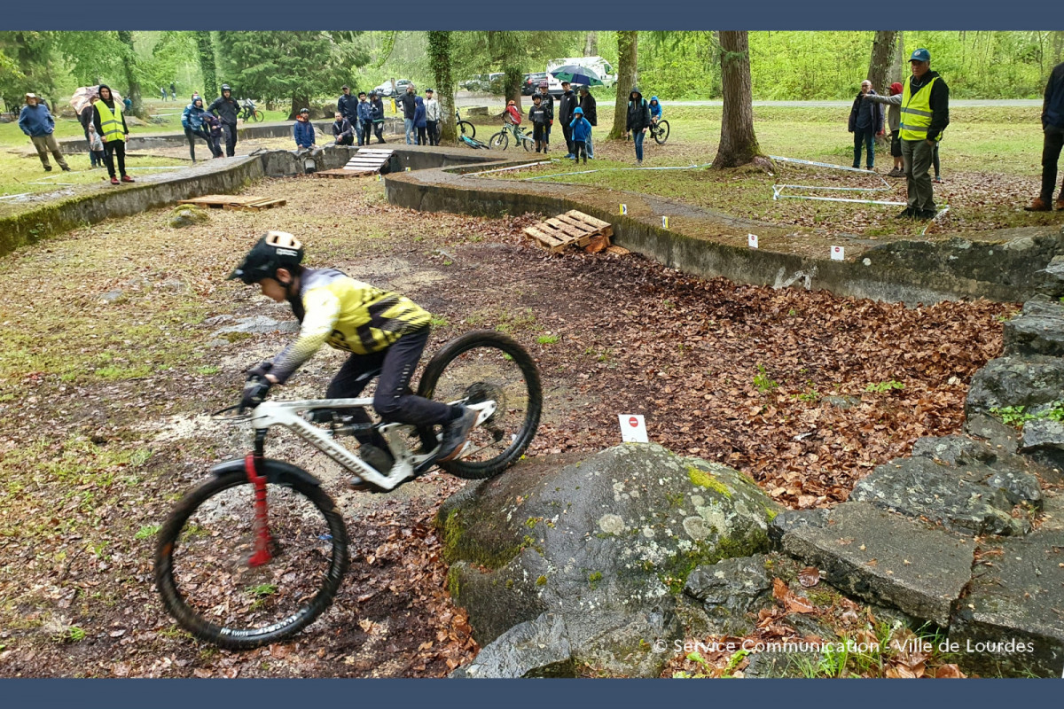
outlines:
[{"label": "plain dark blue border strip along the picture's top edge", "polygon": [[[1064,30],[1060,0],[895,5],[901,30]],[[853,0],[10,0],[0,30],[876,30],[890,29],[887,12]]]}]

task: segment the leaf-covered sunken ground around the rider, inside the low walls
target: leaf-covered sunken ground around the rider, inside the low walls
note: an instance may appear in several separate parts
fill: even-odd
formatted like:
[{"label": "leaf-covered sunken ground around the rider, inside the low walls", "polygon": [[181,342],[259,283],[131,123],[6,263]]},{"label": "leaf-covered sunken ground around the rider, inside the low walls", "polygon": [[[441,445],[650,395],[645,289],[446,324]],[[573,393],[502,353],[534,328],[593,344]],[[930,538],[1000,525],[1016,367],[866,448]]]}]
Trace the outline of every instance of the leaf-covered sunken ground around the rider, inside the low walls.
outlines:
[{"label": "leaf-covered sunken ground around the rider, inside the low walls", "polygon": [[[520,234],[530,218],[393,207],[375,181],[247,191],[288,204],[181,231],[155,209],[0,263],[0,675],[442,676],[476,652],[432,528],[461,483],[351,492],[287,435],[269,454],[321,477],[347,519],[352,568],[333,607],[294,641],[240,654],[190,640],[156,600],[159,525],[245,450],[203,415],[290,337],[216,334],[218,316],[290,317],[223,281],[267,229],[297,234],[312,266],[412,296],[435,316],[430,349],[475,327],[523,342],[546,390],[534,460],[615,444],[617,415],[642,412],[652,440],[744,470],[792,507],[845,500],[917,437],[955,431],[1014,309],[907,309],[635,256],[548,256]],[[319,353],[286,393],[318,395],[340,361]]]}]

